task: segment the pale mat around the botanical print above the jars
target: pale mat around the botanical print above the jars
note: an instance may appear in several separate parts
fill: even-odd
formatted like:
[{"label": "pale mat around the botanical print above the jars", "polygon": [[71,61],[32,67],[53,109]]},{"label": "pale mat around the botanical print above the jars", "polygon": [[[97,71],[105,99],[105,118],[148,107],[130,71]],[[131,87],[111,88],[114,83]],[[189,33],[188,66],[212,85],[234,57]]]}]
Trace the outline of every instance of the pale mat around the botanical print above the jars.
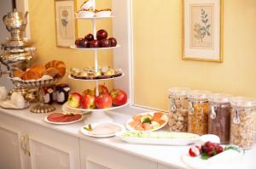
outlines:
[{"label": "pale mat around the botanical print above the jars", "polygon": [[[202,3],[203,2],[203,3]],[[191,4],[214,4],[213,18],[213,49],[189,48],[190,42],[190,5]],[[220,59],[220,0],[184,0],[184,57],[189,59]]]}]

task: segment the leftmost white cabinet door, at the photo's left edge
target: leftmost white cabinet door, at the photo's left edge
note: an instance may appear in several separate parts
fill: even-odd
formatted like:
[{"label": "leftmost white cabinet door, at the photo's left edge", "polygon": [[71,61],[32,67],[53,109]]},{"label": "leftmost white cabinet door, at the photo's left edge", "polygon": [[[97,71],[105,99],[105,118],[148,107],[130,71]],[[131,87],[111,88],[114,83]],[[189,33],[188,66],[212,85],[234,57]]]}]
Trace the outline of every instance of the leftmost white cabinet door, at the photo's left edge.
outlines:
[{"label": "leftmost white cabinet door, at the photo's left edge", "polygon": [[0,127],[0,166],[5,169],[19,169],[20,145],[18,133]]}]

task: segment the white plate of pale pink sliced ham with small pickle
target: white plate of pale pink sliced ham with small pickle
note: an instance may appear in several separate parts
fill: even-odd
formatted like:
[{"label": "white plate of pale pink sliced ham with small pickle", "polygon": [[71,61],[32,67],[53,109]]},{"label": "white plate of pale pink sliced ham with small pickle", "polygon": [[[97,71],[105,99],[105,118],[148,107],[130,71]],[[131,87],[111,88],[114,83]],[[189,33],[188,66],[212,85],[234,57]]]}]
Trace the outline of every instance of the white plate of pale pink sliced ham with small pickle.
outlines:
[{"label": "white plate of pale pink sliced ham with small pickle", "polygon": [[118,123],[94,123],[81,128],[84,135],[95,138],[108,138],[114,136],[117,132],[125,131],[125,127]]}]

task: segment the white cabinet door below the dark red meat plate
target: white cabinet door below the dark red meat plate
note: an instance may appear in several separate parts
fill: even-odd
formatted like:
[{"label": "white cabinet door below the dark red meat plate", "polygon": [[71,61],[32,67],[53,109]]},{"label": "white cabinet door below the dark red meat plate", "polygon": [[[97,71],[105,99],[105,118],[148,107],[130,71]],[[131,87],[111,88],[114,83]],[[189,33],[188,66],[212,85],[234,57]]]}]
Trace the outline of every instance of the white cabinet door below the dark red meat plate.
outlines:
[{"label": "white cabinet door below the dark red meat plate", "polygon": [[32,169],[80,169],[79,138],[28,123]]}]

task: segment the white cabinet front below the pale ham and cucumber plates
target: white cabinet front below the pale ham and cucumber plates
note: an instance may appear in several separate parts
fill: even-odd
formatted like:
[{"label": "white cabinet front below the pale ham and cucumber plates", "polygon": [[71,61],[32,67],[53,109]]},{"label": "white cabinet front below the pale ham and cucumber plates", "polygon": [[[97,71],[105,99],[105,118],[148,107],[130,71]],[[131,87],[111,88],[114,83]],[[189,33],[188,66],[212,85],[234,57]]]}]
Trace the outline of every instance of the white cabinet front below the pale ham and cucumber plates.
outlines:
[{"label": "white cabinet front below the pale ham and cucumber plates", "polygon": [[80,139],[81,169],[157,169],[157,163]]}]

